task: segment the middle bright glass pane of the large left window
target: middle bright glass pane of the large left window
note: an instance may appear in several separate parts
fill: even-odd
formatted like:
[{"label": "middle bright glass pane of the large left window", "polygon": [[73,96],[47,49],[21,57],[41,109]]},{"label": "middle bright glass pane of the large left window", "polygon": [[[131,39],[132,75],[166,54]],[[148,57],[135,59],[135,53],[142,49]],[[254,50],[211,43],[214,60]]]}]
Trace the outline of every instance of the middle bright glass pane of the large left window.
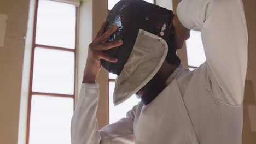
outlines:
[{"label": "middle bright glass pane of the large left window", "polygon": [[74,52],[36,47],[32,91],[73,94]]}]

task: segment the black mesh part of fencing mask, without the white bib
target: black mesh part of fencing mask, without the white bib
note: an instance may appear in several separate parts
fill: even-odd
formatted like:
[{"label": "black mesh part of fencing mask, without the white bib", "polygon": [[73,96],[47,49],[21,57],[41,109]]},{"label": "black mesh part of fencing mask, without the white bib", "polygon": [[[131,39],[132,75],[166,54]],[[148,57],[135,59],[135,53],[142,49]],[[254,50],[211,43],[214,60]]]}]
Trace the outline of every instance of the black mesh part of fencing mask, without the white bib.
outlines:
[{"label": "black mesh part of fencing mask, without the white bib", "polygon": [[117,25],[119,27],[118,30],[107,41],[112,42],[122,39],[123,45],[104,51],[109,56],[118,58],[118,62],[112,63],[101,59],[103,68],[110,73],[120,75],[133,49],[139,29],[164,39],[168,44],[167,62],[179,65],[181,61],[174,49],[174,28],[171,23],[173,16],[171,10],[146,1],[119,1],[108,13],[108,25],[105,30],[107,31],[110,27]]}]

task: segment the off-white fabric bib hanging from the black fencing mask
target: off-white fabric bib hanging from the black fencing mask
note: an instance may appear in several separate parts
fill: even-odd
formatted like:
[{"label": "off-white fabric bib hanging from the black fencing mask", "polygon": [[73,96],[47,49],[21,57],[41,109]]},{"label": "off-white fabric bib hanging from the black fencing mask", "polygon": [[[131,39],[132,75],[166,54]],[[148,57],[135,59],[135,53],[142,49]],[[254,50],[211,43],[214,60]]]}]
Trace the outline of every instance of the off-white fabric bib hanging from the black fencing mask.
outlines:
[{"label": "off-white fabric bib hanging from the black fencing mask", "polygon": [[131,55],[115,79],[113,103],[118,105],[146,85],[164,63],[168,45],[157,35],[139,30]]}]

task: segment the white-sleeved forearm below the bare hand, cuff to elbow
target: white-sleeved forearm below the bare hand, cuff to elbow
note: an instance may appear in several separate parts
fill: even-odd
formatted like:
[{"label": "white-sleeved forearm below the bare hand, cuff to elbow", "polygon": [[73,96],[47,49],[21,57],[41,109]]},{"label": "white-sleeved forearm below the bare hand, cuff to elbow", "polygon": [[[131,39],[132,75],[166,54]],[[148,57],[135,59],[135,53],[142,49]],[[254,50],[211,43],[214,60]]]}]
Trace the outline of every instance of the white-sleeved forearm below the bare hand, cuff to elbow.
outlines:
[{"label": "white-sleeved forearm below the bare hand, cuff to elbow", "polygon": [[101,141],[96,111],[98,85],[82,84],[80,96],[71,121],[72,144],[98,144]]}]

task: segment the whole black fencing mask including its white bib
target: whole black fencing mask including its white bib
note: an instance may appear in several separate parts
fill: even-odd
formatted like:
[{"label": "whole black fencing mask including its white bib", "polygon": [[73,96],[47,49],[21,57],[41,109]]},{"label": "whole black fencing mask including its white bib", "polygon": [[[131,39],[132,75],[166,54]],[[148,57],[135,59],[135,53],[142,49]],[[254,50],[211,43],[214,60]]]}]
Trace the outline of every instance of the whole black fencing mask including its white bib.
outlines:
[{"label": "whole black fencing mask including its white bib", "polygon": [[123,40],[123,45],[104,51],[118,58],[117,63],[101,59],[106,70],[118,75],[114,105],[145,86],[165,59],[170,63],[180,63],[174,49],[173,16],[172,11],[142,0],[121,0],[109,11],[106,30],[114,25],[119,28],[107,41]]}]

